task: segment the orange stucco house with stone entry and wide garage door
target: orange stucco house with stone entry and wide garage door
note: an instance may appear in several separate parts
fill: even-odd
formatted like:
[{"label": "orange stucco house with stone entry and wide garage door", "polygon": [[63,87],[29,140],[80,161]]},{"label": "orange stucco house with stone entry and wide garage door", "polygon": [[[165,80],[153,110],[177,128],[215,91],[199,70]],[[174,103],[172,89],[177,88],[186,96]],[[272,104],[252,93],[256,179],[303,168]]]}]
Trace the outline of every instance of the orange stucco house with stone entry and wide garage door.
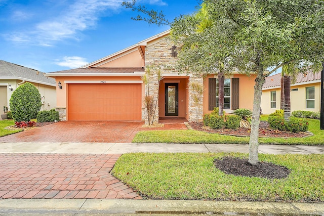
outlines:
[{"label": "orange stucco house with stone entry and wide garage door", "polygon": [[[196,120],[190,82],[204,84],[203,114],[217,106],[217,75],[194,75],[172,69],[177,61],[170,30],[94,61],[83,67],[47,73],[57,84],[57,107],[61,120],[147,120],[143,103],[144,68],[159,66],[163,78],[150,77],[150,95],[158,96],[155,120],[181,117]],[[152,70],[154,72],[154,69]],[[225,79],[225,110],[253,109],[255,76],[234,73]],[[59,88],[59,84],[61,89]]]}]

